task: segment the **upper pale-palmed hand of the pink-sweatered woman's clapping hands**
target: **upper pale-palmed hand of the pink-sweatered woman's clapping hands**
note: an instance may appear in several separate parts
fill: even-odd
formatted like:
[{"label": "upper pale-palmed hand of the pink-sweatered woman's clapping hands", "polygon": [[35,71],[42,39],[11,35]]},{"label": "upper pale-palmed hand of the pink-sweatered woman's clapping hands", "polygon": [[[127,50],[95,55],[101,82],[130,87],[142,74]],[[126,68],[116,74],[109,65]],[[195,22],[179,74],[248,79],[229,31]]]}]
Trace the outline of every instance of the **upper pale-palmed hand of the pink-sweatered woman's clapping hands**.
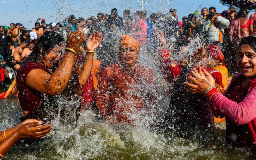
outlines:
[{"label": "upper pale-palmed hand of the pink-sweatered woman's clapping hands", "polygon": [[211,86],[215,87],[215,80],[212,77],[212,75],[207,72],[205,69],[203,69],[204,72],[202,72],[202,68],[199,67],[198,71],[196,68],[193,68],[192,74],[197,78],[197,79],[204,79],[206,80]]}]

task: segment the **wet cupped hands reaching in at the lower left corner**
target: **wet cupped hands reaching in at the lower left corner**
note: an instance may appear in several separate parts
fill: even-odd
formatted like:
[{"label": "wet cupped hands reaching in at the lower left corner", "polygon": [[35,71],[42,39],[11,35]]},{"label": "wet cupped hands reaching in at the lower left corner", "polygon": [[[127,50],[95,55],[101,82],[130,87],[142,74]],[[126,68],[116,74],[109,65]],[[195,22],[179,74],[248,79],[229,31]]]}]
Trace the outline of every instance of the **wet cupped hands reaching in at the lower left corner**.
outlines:
[{"label": "wet cupped hands reaching in at the lower left corner", "polygon": [[52,129],[52,125],[42,126],[42,121],[36,119],[26,120],[20,124],[15,133],[19,136],[20,140],[41,138],[47,135]]}]

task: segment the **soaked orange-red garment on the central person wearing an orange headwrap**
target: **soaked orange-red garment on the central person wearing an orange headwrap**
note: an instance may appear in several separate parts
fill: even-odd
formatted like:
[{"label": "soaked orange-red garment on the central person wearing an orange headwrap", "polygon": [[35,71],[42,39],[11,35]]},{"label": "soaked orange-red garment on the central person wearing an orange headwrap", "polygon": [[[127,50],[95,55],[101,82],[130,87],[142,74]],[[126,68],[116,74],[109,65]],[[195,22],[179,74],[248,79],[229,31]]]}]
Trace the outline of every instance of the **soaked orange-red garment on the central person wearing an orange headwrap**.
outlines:
[{"label": "soaked orange-red garment on the central person wearing an orange headwrap", "polygon": [[111,64],[99,78],[97,108],[103,116],[113,115],[118,122],[131,123],[132,113],[155,107],[155,86],[151,70],[136,65],[134,74],[128,76],[119,64]]}]

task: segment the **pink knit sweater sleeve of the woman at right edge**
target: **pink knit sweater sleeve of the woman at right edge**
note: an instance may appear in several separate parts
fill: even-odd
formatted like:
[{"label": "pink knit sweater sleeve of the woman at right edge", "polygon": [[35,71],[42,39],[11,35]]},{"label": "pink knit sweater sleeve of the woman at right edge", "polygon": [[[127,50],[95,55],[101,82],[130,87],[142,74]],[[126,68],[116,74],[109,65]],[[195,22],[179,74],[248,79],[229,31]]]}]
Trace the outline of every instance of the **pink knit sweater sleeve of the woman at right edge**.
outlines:
[{"label": "pink knit sweater sleeve of the woman at right edge", "polygon": [[[231,83],[240,76],[241,73],[233,76]],[[252,84],[252,88],[246,94],[245,98],[240,102],[236,103],[225,97],[227,90],[223,93],[215,93],[210,101],[210,108],[215,116],[224,117],[224,115],[234,124],[242,125],[251,122],[256,118],[256,87]]]}]

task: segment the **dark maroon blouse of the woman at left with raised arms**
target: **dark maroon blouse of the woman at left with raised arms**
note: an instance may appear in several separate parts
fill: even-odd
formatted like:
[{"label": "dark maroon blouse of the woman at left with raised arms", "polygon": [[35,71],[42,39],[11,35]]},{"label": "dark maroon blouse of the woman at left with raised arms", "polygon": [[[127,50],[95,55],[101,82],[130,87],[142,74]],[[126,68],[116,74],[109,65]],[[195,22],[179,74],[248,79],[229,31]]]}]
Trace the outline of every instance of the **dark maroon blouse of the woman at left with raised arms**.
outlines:
[{"label": "dark maroon blouse of the woman at left with raised arms", "polygon": [[37,92],[26,85],[26,78],[28,76],[28,73],[34,69],[42,69],[49,74],[52,74],[44,66],[32,61],[26,62],[21,65],[16,78],[16,83],[20,106],[24,111],[33,111],[44,100],[44,96],[40,92]]}]

